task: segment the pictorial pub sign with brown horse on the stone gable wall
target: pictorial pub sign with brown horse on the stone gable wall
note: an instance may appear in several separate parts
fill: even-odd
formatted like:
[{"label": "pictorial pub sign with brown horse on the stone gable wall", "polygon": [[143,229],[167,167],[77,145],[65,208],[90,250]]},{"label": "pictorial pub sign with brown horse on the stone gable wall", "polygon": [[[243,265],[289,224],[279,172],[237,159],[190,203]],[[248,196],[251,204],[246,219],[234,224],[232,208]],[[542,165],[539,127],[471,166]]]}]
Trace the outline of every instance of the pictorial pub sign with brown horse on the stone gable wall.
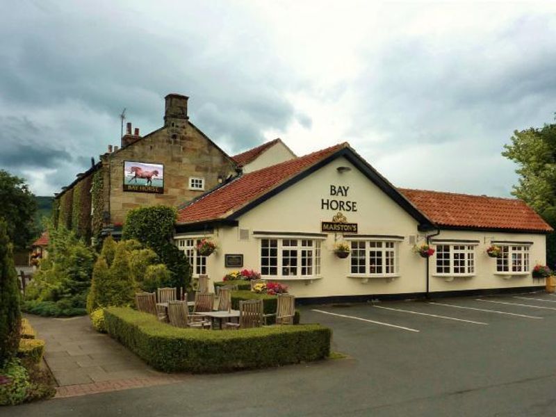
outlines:
[{"label": "pictorial pub sign with brown horse on the stone gable wall", "polygon": [[164,193],[164,165],[124,161],[124,191]]}]

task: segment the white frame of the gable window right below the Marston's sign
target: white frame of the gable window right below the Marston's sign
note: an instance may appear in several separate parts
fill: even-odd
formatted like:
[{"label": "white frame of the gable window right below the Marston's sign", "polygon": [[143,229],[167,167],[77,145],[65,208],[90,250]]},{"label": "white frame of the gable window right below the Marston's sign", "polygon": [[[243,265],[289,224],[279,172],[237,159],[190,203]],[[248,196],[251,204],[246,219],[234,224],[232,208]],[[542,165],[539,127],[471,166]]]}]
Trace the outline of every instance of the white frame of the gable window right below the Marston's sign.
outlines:
[{"label": "white frame of the gable window right below the Marston's sign", "polygon": [[[399,277],[399,246],[397,240],[350,239],[350,277]],[[372,252],[373,256],[371,256]],[[360,260],[359,265],[353,265],[355,259]],[[388,262],[389,259],[391,263]],[[361,260],[363,260],[363,263],[361,263]],[[373,261],[373,265],[371,265],[371,261]],[[354,266],[357,266],[359,271],[354,272],[352,269]],[[377,272],[379,268],[382,270]],[[388,268],[391,268],[391,270],[386,272]]]}]

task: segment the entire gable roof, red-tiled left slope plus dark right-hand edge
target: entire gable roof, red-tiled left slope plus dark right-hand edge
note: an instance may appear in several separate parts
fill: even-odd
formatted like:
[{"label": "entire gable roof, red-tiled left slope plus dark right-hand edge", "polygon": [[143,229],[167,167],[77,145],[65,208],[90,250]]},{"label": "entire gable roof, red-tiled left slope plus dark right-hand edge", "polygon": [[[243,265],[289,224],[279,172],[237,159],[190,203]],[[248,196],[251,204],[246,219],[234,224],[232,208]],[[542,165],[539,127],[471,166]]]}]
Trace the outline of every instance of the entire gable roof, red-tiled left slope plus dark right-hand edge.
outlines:
[{"label": "entire gable roof, red-tiled left slope plus dark right-hand edge", "polygon": [[236,220],[243,213],[250,211],[341,156],[363,172],[420,224],[430,225],[432,223],[389,181],[354,152],[347,142],[243,174],[226,186],[208,192],[197,201],[181,208],[178,212],[177,222],[190,224],[216,219]]}]

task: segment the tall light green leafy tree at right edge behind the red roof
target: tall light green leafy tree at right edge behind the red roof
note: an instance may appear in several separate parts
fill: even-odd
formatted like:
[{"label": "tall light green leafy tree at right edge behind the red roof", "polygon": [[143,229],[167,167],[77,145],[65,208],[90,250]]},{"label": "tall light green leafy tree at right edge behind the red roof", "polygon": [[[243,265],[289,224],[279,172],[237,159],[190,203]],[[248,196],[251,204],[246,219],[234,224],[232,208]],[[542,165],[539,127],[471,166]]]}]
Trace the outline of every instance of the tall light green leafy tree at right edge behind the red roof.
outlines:
[{"label": "tall light green leafy tree at right edge behind the red roof", "polygon": [[[519,165],[519,183],[512,194],[523,199],[550,226],[556,229],[556,124],[541,129],[514,131],[512,144],[504,145],[502,155]],[[546,261],[556,263],[556,234],[546,239]]]}]

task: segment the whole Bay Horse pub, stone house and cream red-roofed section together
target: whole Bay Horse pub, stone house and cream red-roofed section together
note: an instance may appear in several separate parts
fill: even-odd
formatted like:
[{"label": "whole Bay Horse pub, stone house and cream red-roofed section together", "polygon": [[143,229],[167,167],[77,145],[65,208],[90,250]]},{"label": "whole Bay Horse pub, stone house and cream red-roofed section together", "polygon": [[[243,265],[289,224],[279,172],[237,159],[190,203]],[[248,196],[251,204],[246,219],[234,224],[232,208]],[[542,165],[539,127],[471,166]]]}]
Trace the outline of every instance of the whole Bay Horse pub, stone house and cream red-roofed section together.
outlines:
[{"label": "whole Bay Horse pub, stone house and cream red-roofed section together", "polygon": [[[553,231],[518,199],[395,188],[347,143],[297,157],[275,139],[229,156],[174,93],[163,126],[140,136],[128,123],[120,147],[56,195],[53,218],[94,243],[156,204],[179,208],[174,243],[194,277],[254,269],[299,298],[538,287],[531,271]],[[218,250],[199,256],[202,238]],[[430,258],[414,253],[423,243]],[[491,245],[500,256],[486,254]]]}]

